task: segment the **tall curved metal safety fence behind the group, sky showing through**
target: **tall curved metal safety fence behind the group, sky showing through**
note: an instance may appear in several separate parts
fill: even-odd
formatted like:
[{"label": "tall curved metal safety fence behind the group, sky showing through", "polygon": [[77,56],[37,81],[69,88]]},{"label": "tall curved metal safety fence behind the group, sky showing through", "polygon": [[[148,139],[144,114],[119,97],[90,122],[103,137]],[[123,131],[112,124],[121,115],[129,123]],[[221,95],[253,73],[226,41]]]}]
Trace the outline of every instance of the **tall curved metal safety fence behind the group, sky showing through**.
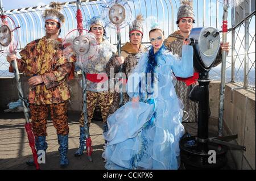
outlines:
[{"label": "tall curved metal safety fence behind the group, sky showing through", "polygon": [[[101,0],[101,1],[81,1],[82,2],[82,15],[84,20],[86,18],[92,18],[92,16],[98,16],[101,15],[102,8],[107,5],[109,1]],[[143,14],[145,21],[144,26],[144,37],[143,37],[143,43],[149,43],[148,38],[148,31],[150,30],[150,22],[155,17],[155,19],[159,22],[160,26],[163,27],[164,34],[167,37],[172,32],[177,30],[176,26],[176,15],[177,10],[180,6],[179,0],[129,0],[127,1],[129,6],[131,7],[131,11],[133,12],[133,19],[138,14]],[[72,2],[66,2],[62,3],[63,5],[63,14],[65,16],[65,23],[61,27],[61,37],[65,37],[65,35],[68,34],[68,32],[72,31],[76,28],[76,1]],[[195,19],[196,24],[194,27],[202,27],[202,26],[212,26],[216,27],[219,30],[221,30],[222,25],[222,4],[218,2],[217,0],[194,0],[194,11],[195,11]],[[42,12],[45,9],[48,9],[49,5],[44,6],[37,6],[37,7],[27,7],[22,9],[15,9],[15,10],[7,10],[6,14],[11,16],[11,18],[14,19],[15,23],[19,25],[21,28],[19,28],[19,47],[18,49],[22,49],[26,46],[27,43],[29,43],[32,40],[38,39],[42,36],[44,36],[44,20],[42,18]],[[232,13],[229,13],[229,22],[232,22]],[[251,22],[253,22],[251,19],[255,19],[255,13],[254,15],[248,16],[249,24],[250,26],[253,26]],[[255,20],[254,20],[255,22]],[[9,22],[9,24],[13,27],[13,23]],[[230,26],[230,25],[229,25]],[[244,84],[247,87],[252,87],[251,85],[251,73],[255,71],[255,29],[254,32],[251,32],[251,28],[249,28],[249,31],[245,32],[245,38],[241,38],[240,36],[237,36],[237,33],[241,32],[240,28],[243,26],[243,23],[241,23],[240,26],[233,27],[232,32],[229,32],[228,34],[228,40],[230,42],[231,47],[233,48],[230,50],[229,56],[227,58],[227,81],[237,81],[242,82],[242,85]],[[247,25],[246,25],[247,26]],[[245,28],[243,28],[245,29]],[[110,43],[116,44],[117,38],[115,30],[106,28],[107,35],[109,37]],[[129,26],[126,26],[121,30],[121,37],[122,37],[122,43],[125,43],[126,41],[129,41]],[[248,33],[247,33],[248,32]],[[76,31],[74,32],[76,33]],[[75,34],[73,35],[75,36]],[[233,41],[234,45],[238,45],[238,41],[240,39],[247,40],[246,44],[249,44],[247,46],[247,54],[249,56],[246,57],[246,62],[253,62],[253,65],[248,64],[248,69],[245,69],[247,79],[242,79],[240,74],[238,72],[241,71],[241,68],[243,66],[238,66],[236,68],[238,62],[243,62],[241,56],[245,55],[245,52],[242,53],[240,56],[241,50],[245,47],[238,48],[236,46],[232,46],[232,40],[235,37],[235,41]],[[254,42],[251,43],[252,41]],[[243,42],[243,41],[241,41]],[[2,47],[0,47],[2,49]],[[238,51],[238,49],[240,49]],[[253,50],[251,50],[253,49]],[[254,53],[254,59],[253,57]],[[245,56],[243,56],[245,57]],[[241,63],[243,64],[243,63]],[[246,64],[247,66],[247,64]],[[13,76],[9,74],[6,70],[6,68],[9,67],[9,64],[5,60],[4,55],[0,55],[0,77],[9,77]],[[239,68],[240,67],[240,68]],[[247,68],[247,67],[246,67]],[[212,79],[220,79],[220,67],[217,66],[217,68],[214,68],[210,72],[210,77]],[[239,78],[238,78],[239,77]],[[247,81],[246,81],[247,80]],[[245,83],[243,83],[245,81]],[[247,82],[247,83],[246,83]],[[254,75],[254,88],[255,89],[255,75]]]}]

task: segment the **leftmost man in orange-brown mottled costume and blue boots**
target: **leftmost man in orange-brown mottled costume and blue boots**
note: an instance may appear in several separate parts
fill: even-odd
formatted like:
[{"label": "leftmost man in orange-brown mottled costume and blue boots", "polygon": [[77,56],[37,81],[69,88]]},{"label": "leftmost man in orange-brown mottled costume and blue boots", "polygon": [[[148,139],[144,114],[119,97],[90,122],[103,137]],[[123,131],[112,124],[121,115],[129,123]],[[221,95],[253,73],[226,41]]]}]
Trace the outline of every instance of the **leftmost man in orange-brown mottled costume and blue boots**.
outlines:
[{"label": "leftmost man in orange-brown mottled costume and blue boots", "polygon": [[[30,103],[36,150],[47,149],[46,124],[49,109],[60,145],[60,166],[66,167],[69,163],[67,100],[70,98],[67,80],[75,59],[68,59],[63,55],[59,33],[61,23],[64,23],[64,16],[60,12],[60,4],[52,2],[51,7],[52,9],[44,11],[43,15],[46,36],[27,44],[20,51],[21,59],[16,60],[19,71],[30,77],[28,103]],[[7,61],[11,62],[15,58],[16,55],[11,54],[7,56]],[[11,66],[10,71],[13,71]],[[34,165],[34,161],[30,160],[27,164]]]}]

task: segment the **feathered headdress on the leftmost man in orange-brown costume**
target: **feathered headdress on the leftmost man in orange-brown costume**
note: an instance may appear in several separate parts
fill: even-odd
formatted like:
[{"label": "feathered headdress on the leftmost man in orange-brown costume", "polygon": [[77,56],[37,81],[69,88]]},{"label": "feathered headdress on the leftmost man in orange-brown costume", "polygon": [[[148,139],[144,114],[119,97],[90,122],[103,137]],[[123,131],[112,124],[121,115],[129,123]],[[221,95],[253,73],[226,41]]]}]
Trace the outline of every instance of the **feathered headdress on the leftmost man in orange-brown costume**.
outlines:
[{"label": "feathered headdress on the leftmost man in orange-brown costume", "polygon": [[65,17],[60,12],[62,9],[60,3],[51,2],[49,7],[51,7],[51,9],[45,10],[43,14],[43,18],[45,22],[47,22],[47,20],[52,20],[53,22],[56,22],[56,23],[60,23],[60,24],[64,23]]}]

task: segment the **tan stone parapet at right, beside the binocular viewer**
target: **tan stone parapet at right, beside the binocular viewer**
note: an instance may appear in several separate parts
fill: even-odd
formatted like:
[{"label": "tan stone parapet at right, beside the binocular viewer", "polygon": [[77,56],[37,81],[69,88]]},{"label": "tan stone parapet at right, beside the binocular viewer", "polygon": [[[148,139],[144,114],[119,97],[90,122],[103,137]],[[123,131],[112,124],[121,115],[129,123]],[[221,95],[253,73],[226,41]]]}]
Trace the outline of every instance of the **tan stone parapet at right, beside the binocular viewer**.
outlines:
[{"label": "tan stone parapet at right, beside the binocular viewer", "polygon": [[[236,162],[237,169],[255,170],[255,91],[238,89],[238,83],[226,83],[224,102],[224,136],[238,134],[233,144],[246,146],[246,151],[231,153]],[[218,129],[218,101],[220,82],[211,82],[209,129]]]}]

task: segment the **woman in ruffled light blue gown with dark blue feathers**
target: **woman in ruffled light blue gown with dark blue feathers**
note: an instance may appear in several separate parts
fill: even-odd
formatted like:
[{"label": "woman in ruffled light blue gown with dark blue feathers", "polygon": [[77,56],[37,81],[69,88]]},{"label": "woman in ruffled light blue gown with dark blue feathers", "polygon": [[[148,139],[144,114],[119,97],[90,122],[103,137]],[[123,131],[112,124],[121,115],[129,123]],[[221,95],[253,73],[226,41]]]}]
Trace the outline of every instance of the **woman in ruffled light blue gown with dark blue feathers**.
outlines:
[{"label": "woman in ruffled light blue gown with dark blue feathers", "polygon": [[108,117],[106,169],[178,169],[183,104],[177,77],[193,75],[193,48],[184,41],[182,58],[163,45],[163,31],[150,30],[151,48],[142,54],[126,85],[131,102]]}]

